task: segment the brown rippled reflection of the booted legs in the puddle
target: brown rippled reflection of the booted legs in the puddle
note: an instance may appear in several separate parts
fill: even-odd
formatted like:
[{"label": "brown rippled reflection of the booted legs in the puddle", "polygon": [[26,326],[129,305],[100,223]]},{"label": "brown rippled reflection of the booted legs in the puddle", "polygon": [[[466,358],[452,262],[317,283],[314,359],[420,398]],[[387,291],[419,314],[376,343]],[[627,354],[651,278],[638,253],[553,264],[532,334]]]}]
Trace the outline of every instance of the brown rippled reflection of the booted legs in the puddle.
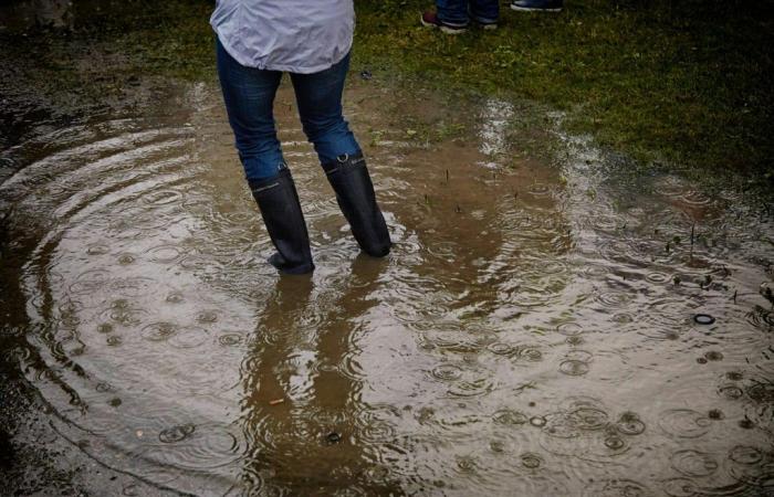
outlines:
[{"label": "brown rippled reflection of the booted legs in the puddle", "polygon": [[311,279],[281,278],[268,299],[244,372],[244,430],[252,448],[243,478],[253,491],[260,486],[272,495],[398,493],[379,473],[369,434],[379,433],[380,423],[362,401],[362,382],[348,363],[357,360],[351,355],[377,304],[373,292],[383,268],[381,261],[358,256],[312,327],[305,320]]}]

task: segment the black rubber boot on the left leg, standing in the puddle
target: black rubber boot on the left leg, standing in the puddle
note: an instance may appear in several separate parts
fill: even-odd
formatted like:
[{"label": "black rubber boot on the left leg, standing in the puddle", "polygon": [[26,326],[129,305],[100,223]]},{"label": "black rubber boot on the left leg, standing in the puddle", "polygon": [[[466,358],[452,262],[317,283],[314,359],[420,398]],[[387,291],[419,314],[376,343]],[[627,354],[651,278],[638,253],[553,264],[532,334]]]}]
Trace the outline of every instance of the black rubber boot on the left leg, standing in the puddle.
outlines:
[{"label": "black rubber boot on the left leg, standing in the puddle", "polygon": [[314,271],[306,223],[290,169],[280,169],[274,178],[250,181],[250,190],[276,248],[269,264],[287,274]]}]

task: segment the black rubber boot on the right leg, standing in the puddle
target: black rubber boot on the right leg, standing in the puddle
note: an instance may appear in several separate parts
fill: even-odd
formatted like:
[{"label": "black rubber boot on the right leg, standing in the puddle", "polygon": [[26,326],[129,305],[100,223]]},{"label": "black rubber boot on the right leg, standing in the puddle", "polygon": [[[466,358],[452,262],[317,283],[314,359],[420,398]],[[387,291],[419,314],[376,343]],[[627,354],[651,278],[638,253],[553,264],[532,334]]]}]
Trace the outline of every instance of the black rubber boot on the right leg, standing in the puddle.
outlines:
[{"label": "black rubber boot on the right leg, standing in the puddle", "polygon": [[387,255],[391,245],[389,232],[376,204],[374,184],[363,154],[341,156],[335,162],[324,163],[323,169],[360,248],[374,257]]}]

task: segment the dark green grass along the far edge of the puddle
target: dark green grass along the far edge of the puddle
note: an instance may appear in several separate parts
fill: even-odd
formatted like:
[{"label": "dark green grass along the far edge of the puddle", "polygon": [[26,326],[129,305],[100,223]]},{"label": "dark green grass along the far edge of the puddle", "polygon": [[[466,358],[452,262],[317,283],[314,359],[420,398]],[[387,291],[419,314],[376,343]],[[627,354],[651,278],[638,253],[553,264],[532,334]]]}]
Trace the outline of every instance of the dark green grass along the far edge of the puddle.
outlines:
[{"label": "dark green grass along the far edge of the puddle", "polygon": [[[358,0],[353,68],[538,103],[524,108],[563,110],[569,131],[639,163],[773,184],[774,0],[566,0],[555,14],[503,4],[499,30],[458,36],[419,25],[431,3]],[[135,73],[213,76],[211,2],[79,6],[76,43],[128,55],[118,85]],[[36,70],[77,80],[66,53],[45,53]]]}]

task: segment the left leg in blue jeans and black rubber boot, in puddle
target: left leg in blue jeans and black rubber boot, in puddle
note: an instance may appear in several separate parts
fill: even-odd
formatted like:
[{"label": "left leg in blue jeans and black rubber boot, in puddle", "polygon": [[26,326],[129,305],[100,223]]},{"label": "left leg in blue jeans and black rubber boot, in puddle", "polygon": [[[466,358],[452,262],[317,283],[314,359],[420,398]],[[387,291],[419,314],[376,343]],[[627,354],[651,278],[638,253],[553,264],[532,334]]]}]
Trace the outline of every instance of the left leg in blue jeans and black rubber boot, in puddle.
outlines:
[{"label": "left leg in blue jeans and black rubber boot, in puddle", "polygon": [[245,67],[218,42],[218,75],[239,158],[278,253],[269,263],[289,274],[314,269],[306,223],[274,127],[282,73]]}]

